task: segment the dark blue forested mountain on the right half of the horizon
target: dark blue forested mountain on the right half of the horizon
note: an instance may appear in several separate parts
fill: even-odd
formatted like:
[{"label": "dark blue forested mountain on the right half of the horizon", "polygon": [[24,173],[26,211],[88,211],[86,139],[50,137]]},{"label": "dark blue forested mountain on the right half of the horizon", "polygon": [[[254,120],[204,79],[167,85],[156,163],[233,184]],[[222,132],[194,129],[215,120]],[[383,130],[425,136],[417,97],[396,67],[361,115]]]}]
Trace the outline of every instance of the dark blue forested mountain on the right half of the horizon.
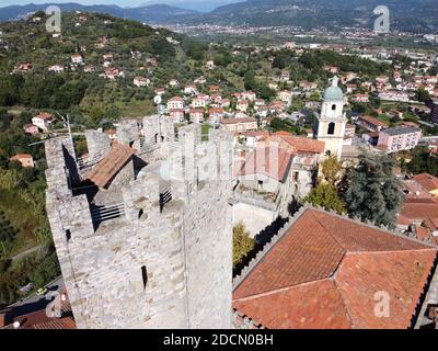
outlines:
[{"label": "dark blue forested mountain on the right half of the horizon", "polygon": [[390,10],[393,30],[433,32],[438,29],[436,0],[247,0],[220,7],[204,15],[203,21],[227,25],[371,29],[377,18],[373,9],[381,4]]}]

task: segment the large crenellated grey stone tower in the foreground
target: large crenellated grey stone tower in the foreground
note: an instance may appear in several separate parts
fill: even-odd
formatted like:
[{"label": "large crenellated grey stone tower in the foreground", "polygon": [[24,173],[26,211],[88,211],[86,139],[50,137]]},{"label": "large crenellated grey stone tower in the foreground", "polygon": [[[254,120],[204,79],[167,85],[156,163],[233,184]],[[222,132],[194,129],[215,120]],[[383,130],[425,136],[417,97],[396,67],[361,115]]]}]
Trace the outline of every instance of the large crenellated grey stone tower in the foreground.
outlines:
[{"label": "large crenellated grey stone tower in the foreground", "polygon": [[[220,131],[201,143],[198,128],[181,128],[177,140],[151,128],[132,140],[124,127],[140,150],[117,144],[90,170],[74,162],[68,138],[46,143],[47,213],[79,328],[230,327],[232,189],[219,173],[231,169],[232,143]],[[146,166],[111,186],[90,182],[101,184],[101,169],[124,155],[119,165]],[[222,168],[199,176],[206,165]]]}]

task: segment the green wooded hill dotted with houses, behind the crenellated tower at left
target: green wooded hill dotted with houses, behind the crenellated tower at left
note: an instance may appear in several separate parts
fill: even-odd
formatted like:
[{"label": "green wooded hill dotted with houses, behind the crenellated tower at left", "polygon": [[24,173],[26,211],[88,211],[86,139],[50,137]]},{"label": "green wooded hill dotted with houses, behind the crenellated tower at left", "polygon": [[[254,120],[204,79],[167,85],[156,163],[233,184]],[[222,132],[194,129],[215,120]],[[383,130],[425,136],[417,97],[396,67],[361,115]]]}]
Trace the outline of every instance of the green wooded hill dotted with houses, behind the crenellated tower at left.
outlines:
[{"label": "green wooded hill dotted with houses, behind the crenellated tower at left", "polygon": [[[101,106],[107,116],[145,115],[154,109],[154,89],[188,72],[187,61],[207,52],[184,35],[106,14],[67,13],[60,37],[47,33],[45,21],[44,13],[35,13],[0,23],[0,106],[73,109],[78,115]],[[72,55],[83,63],[74,65]],[[26,63],[32,68],[20,70]],[[49,71],[54,65],[62,71]],[[107,69],[120,76],[103,78]],[[134,87],[137,76],[149,79],[149,87]]]}]

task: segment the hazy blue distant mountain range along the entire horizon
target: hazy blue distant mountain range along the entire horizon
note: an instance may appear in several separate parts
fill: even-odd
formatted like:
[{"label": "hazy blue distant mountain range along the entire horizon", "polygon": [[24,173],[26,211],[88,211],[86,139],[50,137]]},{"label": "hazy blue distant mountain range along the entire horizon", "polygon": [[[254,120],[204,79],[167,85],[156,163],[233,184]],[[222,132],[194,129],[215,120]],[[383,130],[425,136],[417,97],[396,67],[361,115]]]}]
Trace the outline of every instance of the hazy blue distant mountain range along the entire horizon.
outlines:
[{"label": "hazy blue distant mountain range along the entire horizon", "polygon": [[[219,7],[208,13],[180,9],[169,4],[138,8],[117,5],[58,4],[64,11],[104,12],[150,24],[218,24],[280,26],[304,29],[325,26],[361,26],[371,29],[377,18],[373,9],[381,0],[246,0]],[[438,0],[385,0],[391,12],[392,30],[430,33],[438,31]],[[22,18],[46,9],[48,4],[0,8],[0,21]]]}]

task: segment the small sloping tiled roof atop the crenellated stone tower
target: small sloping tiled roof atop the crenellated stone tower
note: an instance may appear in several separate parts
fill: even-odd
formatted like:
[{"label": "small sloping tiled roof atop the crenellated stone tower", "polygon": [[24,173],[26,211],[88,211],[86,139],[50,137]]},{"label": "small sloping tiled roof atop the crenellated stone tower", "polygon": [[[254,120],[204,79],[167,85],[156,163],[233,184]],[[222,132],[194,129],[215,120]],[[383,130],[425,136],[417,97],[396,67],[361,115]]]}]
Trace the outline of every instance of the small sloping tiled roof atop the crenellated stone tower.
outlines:
[{"label": "small sloping tiled roof atop the crenellated stone tower", "polygon": [[135,150],[129,146],[113,143],[108,155],[85,174],[85,179],[92,181],[99,188],[106,188],[128,163],[134,154]]}]

